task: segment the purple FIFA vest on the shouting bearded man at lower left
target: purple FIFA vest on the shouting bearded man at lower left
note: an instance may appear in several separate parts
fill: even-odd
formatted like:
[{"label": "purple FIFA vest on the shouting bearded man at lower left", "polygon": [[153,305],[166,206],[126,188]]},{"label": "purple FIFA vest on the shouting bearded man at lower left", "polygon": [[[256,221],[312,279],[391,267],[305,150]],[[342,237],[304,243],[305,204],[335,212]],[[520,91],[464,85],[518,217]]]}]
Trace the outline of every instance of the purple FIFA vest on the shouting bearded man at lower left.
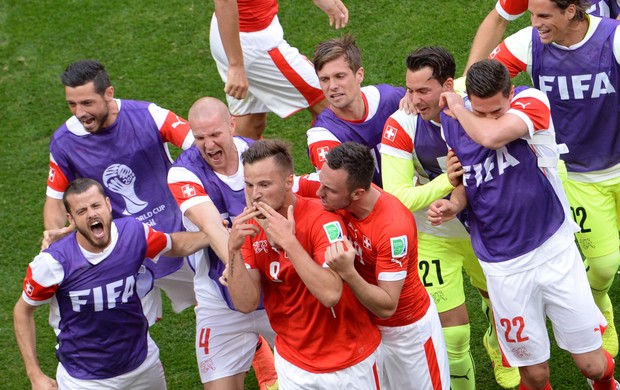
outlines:
[{"label": "purple FIFA vest on the shouting bearded man at lower left", "polygon": [[57,356],[78,379],[124,374],[147,355],[148,322],[135,291],[136,276],[146,262],[144,226],[134,218],[113,223],[116,247],[97,265],[86,260],[75,232],[46,250],[65,272],[56,291],[61,317]]}]

